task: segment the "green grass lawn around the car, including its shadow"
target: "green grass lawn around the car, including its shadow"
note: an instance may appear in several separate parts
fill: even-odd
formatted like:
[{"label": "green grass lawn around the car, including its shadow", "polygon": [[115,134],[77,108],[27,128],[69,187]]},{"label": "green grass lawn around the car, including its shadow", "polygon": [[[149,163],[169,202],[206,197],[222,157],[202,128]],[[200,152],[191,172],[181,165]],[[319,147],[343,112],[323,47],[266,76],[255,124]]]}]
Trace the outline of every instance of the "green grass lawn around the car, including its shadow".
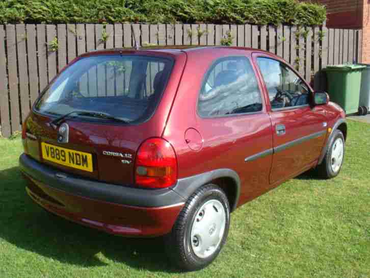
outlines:
[{"label": "green grass lawn around the car, including its shadow", "polygon": [[301,175],[231,215],[218,259],[177,272],[161,239],[127,239],[49,215],[24,191],[20,139],[0,139],[0,277],[370,277],[370,125],[349,121],[337,178]]}]

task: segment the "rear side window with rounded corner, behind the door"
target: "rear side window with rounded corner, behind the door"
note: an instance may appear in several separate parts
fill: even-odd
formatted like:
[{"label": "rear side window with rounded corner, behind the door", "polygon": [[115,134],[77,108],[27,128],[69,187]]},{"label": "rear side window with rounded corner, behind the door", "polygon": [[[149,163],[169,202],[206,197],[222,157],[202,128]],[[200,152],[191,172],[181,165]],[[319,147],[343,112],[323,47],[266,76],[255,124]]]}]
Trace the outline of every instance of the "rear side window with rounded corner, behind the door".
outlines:
[{"label": "rear side window with rounded corner, behind the door", "polygon": [[213,117],[261,110],[261,93],[247,58],[223,58],[210,67],[199,94],[200,116]]}]

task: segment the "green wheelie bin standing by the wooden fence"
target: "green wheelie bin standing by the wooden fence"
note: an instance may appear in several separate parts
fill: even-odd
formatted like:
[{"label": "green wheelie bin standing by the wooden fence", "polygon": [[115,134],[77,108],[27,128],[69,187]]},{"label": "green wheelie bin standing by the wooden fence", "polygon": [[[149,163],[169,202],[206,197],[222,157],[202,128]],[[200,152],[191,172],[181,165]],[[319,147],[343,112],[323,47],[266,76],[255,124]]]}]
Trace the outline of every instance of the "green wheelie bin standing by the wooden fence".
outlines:
[{"label": "green wheelie bin standing by the wooden fence", "polygon": [[346,114],[358,112],[361,72],[364,68],[363,65],[335,65],[324,69],[330,100],[340,105]]}]

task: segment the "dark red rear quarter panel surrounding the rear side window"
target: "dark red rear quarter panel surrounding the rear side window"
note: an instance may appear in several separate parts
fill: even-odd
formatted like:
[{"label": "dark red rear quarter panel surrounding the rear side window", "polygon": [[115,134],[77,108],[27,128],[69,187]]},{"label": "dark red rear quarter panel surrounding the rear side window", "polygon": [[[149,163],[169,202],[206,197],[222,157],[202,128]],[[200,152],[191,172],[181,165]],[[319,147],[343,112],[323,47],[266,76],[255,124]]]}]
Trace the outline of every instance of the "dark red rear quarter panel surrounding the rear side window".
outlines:
[{"label": "dark red rear quarter panel surrounding the rear side window", "polygon": [[[207,119],[197,114],[197,101],[204,74],[216,59],[250,57],[250,51],[208,48],[187,54],[187,65],[163,135],[175,148],[178,178],[215,169],[232,169],[240,176],[241,205],[269,189],[272,155],[245,162],[245,158],[272,148],[272,128],[266,105],[263,104],[263,111],[256,114]],[[262,95],[262,100],[264,98]],[[184,133],[189,128],[199,131],[203,138],[199,151],[191,150],[185,141]]]}]

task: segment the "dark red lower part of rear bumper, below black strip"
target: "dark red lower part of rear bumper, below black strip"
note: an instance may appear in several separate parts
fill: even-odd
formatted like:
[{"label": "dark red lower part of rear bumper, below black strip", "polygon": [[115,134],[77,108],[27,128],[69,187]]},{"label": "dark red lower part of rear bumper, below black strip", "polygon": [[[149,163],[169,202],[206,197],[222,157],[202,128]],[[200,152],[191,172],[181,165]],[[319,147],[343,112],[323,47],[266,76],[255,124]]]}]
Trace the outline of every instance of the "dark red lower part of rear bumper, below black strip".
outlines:
[{"label": "dark red lower part of rear bumper, below black strip", "polygon": [[71,195],[51,188],[27,175],[27,193],[48,211],[83,225],[122,236],[161,236],[172,224],[183,204],[160,208],[145,208],[111,204]]}]

